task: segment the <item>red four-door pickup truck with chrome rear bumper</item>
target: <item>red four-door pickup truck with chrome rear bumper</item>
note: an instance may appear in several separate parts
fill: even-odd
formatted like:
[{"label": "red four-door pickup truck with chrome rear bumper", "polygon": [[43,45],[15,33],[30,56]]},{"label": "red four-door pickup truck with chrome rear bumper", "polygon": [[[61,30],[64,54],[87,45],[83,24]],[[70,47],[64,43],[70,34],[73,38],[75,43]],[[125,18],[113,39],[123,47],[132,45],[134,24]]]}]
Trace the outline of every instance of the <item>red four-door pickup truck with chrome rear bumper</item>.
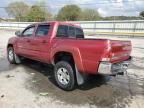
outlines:
[{"label": "red four-door pickup truck with chrome rear bumper", "polygon": [[9,62],[29,58],[52,64],[64,90],[83,84],[87,74],[123,73],[131,60],[130,41],[86,39],[81,27],[66,22],[37,23],[15,34],[7,45]]}]

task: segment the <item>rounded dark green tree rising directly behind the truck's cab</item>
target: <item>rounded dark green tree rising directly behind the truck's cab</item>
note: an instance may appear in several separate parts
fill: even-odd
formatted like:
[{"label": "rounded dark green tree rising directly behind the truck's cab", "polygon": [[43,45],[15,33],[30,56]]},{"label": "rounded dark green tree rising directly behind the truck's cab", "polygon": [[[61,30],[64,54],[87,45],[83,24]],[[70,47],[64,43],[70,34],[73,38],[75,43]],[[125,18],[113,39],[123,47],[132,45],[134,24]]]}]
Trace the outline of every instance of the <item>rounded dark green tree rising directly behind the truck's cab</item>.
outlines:
[{"label": "rounded dark green tree rising directly behind the truck's cab", "polygon": [[78,20],[79,14],[81,13],[81,8],[77,5],[66,5],[60,9],[56,20],[63,21],[76,21]]}]

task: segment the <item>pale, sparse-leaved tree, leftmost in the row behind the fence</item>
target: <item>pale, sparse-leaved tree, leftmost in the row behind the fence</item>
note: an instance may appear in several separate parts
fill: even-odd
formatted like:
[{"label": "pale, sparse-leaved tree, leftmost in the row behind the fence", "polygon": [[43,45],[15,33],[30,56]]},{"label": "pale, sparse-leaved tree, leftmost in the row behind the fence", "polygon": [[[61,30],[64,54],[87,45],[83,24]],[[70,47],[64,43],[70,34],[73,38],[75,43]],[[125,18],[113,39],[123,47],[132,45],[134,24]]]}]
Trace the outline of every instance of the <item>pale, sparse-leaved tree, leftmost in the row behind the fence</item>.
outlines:
[{"label": "pale, sparse-leaved tree, leftmost in the row behind the fence", "polygon": [[5,10],[10,17],[14,17],[17,21],[24,21],[28,8],[24,2],[12,2]]}]

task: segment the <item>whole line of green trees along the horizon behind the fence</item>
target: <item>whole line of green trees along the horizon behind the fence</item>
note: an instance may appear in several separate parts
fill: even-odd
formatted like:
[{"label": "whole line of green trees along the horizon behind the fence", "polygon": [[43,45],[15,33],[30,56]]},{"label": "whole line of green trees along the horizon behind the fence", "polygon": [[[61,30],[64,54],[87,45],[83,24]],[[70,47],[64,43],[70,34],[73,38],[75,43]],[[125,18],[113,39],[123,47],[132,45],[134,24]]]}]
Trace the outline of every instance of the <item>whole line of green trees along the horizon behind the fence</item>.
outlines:
[{"label": "whole line of green trees along the horizon behind the fence", "polygon": [[56,15],[53,15],[44,2],[28,6],[24,2],[12,2],[6,8],[9,17],[15,21],[41,22],[41,21],[96,21],[96,20],[139,20],[143,19],[144,11],[139,17],[110,16],[102,17],[97,10],[81,9],[77,5],[66,5]]}]

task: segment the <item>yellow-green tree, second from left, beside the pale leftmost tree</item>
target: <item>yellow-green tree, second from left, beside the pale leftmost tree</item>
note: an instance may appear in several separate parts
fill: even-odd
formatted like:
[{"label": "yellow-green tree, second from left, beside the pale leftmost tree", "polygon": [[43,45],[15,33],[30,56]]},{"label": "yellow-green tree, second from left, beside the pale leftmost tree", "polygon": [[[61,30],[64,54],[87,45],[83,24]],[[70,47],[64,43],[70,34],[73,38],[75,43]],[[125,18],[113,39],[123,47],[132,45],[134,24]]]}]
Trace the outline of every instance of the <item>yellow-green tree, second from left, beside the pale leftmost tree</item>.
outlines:
[{"label": "yellow-green tree, second from left, beside the pale leftmost tree", "polygon": [[33,5],[27,13],[27,21],[41,22],[46,21],[51,17],[51,14],[47,9],[41,8],[41,6]]}]

